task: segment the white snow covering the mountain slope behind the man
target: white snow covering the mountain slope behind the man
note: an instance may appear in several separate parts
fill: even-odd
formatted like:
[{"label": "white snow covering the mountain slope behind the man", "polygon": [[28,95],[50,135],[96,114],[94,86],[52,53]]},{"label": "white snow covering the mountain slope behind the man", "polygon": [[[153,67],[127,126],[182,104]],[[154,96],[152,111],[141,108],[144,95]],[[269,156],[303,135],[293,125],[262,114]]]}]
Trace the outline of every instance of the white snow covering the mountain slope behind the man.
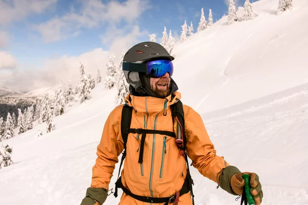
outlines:
[{"label": "white snow covering the mountain slope behind the man", "polygon": [[[294,1],[293,11],[279,16],[277,7],[276,0],[255,2],[255,19],[227,26],[224,16],[176,43],[172,77],[183,103],[201,114],[217,154],[259,175],[262,204],[302,205],[308,204],[308,2]],[[101,83],[90,95],[54,117],[52,132],[33,125],[4,141],[14,163],[0,170],[0,204],[81,203],[117,89]],[[39,130],[44,134],[38,137]],[[118,169],[119,163],[110,189]],[[240,204],[190,171],[196,205]],[[104,204],[119,198],[110,195]]]}]

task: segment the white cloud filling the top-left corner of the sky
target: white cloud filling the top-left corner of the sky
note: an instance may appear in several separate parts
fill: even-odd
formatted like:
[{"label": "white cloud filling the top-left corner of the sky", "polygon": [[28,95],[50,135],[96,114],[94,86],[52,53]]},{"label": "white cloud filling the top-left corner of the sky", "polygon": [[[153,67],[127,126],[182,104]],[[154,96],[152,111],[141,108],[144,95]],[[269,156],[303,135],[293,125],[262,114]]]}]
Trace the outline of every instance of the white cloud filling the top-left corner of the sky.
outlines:
[{"label": "white cloud filling the top-left corner of the sky", "polygon": [[33,13],[43,13],[58,0],[0,0],[0,25],[8,25]]}]

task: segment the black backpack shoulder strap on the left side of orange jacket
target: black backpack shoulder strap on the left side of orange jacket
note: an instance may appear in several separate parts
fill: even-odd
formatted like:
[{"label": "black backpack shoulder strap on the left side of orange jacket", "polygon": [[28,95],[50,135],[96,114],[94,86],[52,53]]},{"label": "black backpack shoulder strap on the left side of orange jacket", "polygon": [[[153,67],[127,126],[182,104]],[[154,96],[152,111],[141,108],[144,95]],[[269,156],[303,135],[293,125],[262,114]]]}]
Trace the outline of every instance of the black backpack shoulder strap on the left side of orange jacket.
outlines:
[{"label": "black backpack shoulder strap on the left side of orange jacket", "polygon": [[127,138],[128,138],[128,132],[125,132],[126,129],[130,128],[130,123],[131,123],[131,113],[132,113],[132,107],[128,106],[125,104],[122,109],[122,116],[121,116],[121,134],[122,134],[122,139],[124,142],[124,150],[122,152],[122,158],[121,158],[121,163],[120,163],[120,168],[119,168],[119,174],[118,174],[118,180],[115,182],[115,190],[114,190],[114,196],[118,196],[118,188],[120,188],[120,182],[121,178],[119,178],[120,173],[121,173],[121,168],[123,165],[123,161],[126,157],[126,143],[127,143]]}]

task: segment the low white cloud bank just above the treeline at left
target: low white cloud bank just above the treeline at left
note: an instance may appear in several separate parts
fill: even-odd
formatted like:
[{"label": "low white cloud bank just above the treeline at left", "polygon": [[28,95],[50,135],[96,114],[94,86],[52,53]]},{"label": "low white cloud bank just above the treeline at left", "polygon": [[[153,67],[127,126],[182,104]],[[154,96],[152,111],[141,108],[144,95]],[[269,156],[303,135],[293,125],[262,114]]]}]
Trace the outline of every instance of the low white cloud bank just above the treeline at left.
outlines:
[{"label": "low white cloud bank just above the treeline at left", "polygon": [[108,56],[108,51],[98,48],[80,56],[65,55],[60,58],[46,59],[41,68],[16,68],[10,73],[0,70],[0,88],[6,87],[24,92],[51,87],[60,81],[67,85],[68,80],[71,80],[74,86],[80,80],[80,60],[84,63],[86,73],[96,77],[97,69],[100,69],[104,77]]}]

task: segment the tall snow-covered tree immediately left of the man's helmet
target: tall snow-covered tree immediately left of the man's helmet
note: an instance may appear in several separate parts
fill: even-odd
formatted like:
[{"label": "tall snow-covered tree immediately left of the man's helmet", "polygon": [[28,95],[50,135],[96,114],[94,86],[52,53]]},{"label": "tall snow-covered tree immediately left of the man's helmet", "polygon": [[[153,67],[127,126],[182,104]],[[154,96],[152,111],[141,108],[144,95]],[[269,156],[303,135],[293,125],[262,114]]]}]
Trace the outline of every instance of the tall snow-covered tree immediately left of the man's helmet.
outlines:
[{"label": "tall snow-covered tree immediately left of the man's helmet", "polygon": [[125,50],[123,50],[121,57],[120,57],[120,64],[118,66],[119,69],[119,79],[118,79],[118,83],[117,83],[117,89],[118,89],[118,95],[115,99],[115,104],[116,105],[122,105],[125,103],[125,97],[128,95],[129,93],[129,86],[128,83],[125,79],[124,76],[124,72],[122,70],[122,63],[123,63],[123,58],[125,55]]}]

